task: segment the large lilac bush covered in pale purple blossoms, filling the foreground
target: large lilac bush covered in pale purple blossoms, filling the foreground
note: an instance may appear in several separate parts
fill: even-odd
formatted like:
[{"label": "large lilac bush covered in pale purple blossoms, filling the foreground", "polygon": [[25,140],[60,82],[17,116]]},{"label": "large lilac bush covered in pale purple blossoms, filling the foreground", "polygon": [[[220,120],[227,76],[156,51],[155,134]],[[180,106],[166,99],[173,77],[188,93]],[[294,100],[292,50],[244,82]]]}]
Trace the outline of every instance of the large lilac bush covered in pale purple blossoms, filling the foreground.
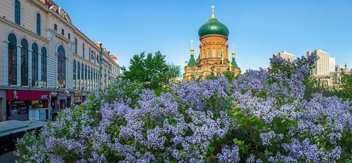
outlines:
[{"label": "large lilac bush covered in pale purple blossoms, filling the foreground", "polygon": [[307,95],[315,56],[183,82],[120,81],[17,145],[20,162],[350,162],[352,103]]}]

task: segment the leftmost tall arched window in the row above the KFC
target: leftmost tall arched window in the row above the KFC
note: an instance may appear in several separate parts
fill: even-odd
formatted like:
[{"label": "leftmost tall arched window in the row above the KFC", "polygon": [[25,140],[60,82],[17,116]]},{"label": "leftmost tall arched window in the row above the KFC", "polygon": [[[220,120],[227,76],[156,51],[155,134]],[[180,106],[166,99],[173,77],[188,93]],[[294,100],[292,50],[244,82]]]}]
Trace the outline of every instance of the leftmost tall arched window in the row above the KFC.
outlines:
[{"label": "leftmost tall arched window in the row above the KFC", "polygon": [[9,85],[17,85],[17,39],[14,34],[8,37]]}]

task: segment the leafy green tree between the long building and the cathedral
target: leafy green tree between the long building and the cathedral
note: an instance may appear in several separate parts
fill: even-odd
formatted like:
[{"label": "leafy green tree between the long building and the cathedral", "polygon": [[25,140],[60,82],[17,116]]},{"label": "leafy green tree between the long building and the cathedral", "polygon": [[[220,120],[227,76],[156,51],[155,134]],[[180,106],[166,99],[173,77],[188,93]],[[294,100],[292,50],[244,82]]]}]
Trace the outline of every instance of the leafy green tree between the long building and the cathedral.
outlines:
[{"label": "leafy green tree between the long building and the cathedral", "polygon": [[128,70],[122,67],[123,80],[132,82],[141,82],[145,88],[161,91],[170,88],[177,83],[177,76],[180,74],[180,69],[176,66],[167,64],[165,55],[160,51],[148,53],[142,52],[139,55],[134,55],[130,60]]}]

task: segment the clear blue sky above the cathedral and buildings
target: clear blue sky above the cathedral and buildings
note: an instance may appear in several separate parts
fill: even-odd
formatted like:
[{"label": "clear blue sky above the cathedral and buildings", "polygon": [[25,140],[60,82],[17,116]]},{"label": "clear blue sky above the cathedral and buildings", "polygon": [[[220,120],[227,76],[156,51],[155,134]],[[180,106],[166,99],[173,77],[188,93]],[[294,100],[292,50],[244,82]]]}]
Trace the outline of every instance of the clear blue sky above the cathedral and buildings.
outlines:
[{"label": "clear blue sky above the cathedral and buildings", "polygon": [[175,64],[195,56],[199,27],[216,18],[230,30],[243,70],[267,67],[273,53],[298,56],[321,49],[352,67],[352,1],[67,1],[55,0],[73,24],[128,66],[140,52],[161,51]]}]

